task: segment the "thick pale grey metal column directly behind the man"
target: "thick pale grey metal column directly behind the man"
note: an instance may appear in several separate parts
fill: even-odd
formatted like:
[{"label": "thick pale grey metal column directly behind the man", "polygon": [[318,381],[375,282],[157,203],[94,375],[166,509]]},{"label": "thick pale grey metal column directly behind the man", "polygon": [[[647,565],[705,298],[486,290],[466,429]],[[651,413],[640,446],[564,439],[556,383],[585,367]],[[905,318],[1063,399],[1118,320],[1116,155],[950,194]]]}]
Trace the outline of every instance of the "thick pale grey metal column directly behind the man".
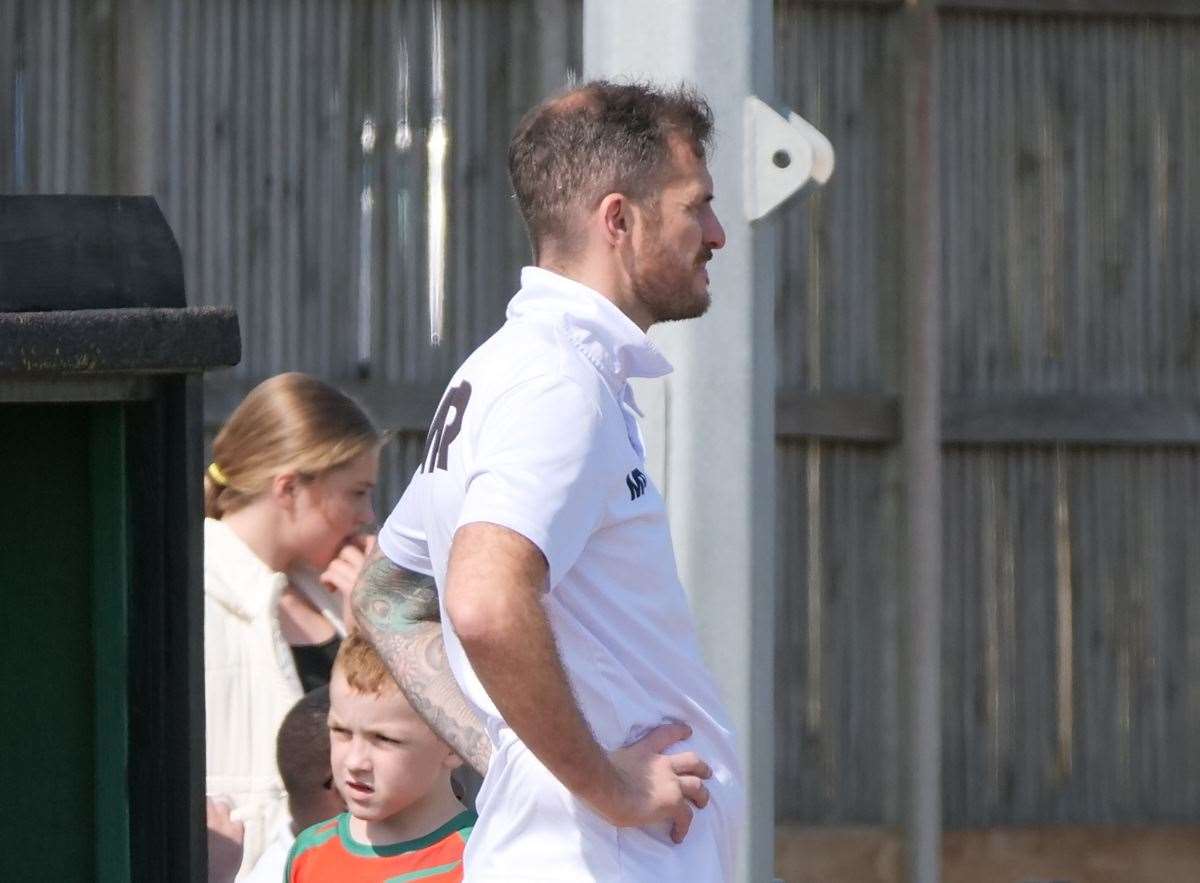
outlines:
[{"label": "thick pale grey metal column directly behind the man", "polygon": [[709,158],[726,247],[702,319],[652,331],[676,366],[642,385],[649,468],[680,577],[738,731],[746,819],[738,881],[774,855],[774,235],[746,220],[745,100],[773,95],[770,0],[584,0],[584,77],[688,80],[716,115]]}]

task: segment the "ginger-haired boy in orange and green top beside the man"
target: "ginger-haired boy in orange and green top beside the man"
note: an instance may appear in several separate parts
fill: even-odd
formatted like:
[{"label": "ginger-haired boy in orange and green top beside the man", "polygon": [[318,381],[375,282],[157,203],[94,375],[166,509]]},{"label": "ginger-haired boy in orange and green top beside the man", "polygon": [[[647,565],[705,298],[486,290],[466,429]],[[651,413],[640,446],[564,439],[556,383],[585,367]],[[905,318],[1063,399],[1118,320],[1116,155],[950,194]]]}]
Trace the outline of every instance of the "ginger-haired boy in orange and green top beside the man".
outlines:
[{"label": "ginger-haired boy in orange and green top beside the man", "polygon": [[462,761],[358,633],[337,651],[329,698],[334,783],[349,811],[296,837],[288,882],[461,881],[475,824],[451,791],[450,773]]}]

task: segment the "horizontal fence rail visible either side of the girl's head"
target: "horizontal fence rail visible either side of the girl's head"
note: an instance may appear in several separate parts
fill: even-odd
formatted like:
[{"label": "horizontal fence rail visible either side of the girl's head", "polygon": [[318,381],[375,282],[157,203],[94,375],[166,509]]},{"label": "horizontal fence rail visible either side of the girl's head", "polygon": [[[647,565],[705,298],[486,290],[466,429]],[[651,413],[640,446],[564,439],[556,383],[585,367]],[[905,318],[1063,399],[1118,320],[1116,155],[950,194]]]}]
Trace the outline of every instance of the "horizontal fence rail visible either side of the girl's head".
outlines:
[{"label": "horizontal fence rail visible either side of the girl's head", "polygon": [[[326,378],[328,380],[328,378]],[[396,433],[424,436],[442,397],[442,384],[388,380],[328,380],[358,402],[376,426]],[[228,419],[257,380],[229,376],[204,378],[204,428],[215,431]]]}]

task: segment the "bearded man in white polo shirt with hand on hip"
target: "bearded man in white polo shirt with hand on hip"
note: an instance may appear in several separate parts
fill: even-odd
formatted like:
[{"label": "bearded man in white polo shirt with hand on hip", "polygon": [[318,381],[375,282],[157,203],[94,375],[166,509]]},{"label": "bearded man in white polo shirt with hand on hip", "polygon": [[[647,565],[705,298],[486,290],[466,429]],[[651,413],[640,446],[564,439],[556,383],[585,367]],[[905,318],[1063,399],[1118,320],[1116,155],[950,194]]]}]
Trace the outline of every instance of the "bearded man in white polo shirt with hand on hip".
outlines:
[{"label": "bearded man in white polo shirt with hand on hip", "polygon": [[709,304],[710,132],[686,89],[594,82],[526,115],[509,170],[536,266],[355,591],[414,707],[486,767],[468,881],[732,876],[734,739],[629,385],[671,371],[646,330]]}]

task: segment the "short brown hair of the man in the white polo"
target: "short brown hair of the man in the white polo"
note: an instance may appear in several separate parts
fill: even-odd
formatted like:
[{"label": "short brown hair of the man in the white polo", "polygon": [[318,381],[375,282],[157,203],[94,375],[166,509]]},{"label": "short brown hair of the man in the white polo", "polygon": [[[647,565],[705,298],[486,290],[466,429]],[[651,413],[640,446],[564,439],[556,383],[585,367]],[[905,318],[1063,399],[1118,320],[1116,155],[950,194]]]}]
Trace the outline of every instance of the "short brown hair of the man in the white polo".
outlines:
[{"label": "short brown hair of the man in the white polo", "polygon": [[509,142],[509,178],[534,258],[547,244],[570,253],[581,212],[610,193],[653,197],[672,137],[704,158],[713,112],[686,86],[593,80],[529,110]]}]

